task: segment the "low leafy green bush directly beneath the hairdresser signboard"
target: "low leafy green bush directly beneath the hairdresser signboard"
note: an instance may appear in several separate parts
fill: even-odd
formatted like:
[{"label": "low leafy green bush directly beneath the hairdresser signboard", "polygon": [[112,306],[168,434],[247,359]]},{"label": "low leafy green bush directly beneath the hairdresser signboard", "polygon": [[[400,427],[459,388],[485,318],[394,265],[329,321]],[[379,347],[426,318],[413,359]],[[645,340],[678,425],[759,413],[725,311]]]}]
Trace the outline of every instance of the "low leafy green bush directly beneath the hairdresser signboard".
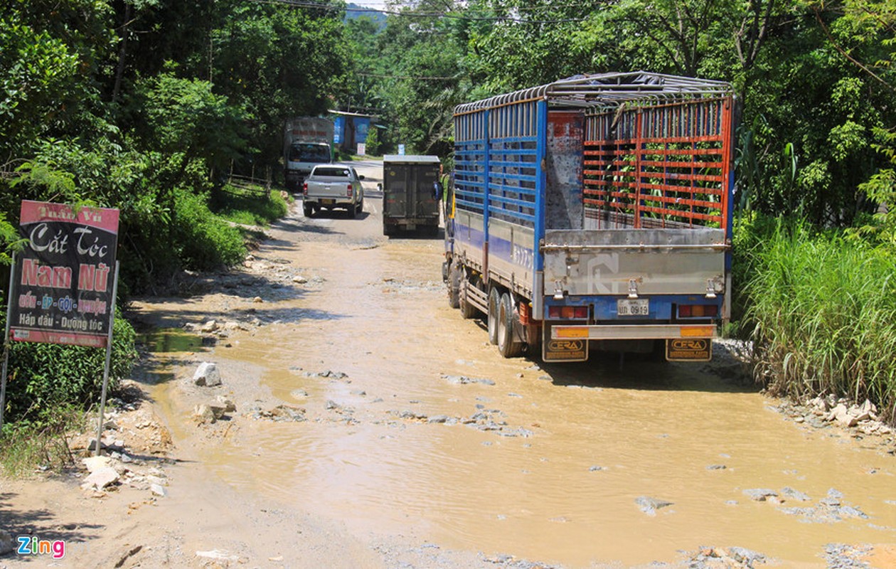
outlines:
[{"label": "low leafy green bush directly beneath the hairdresser signboard", "polygon": [[[116,316],[109,388],[131,375],[137,357],[134,327]],[[6,384],[6,424],[21,421],[44,427],[47,418],[67,405],[84,409],[99,401],[106,350],[30,342],[13,342]]]}]

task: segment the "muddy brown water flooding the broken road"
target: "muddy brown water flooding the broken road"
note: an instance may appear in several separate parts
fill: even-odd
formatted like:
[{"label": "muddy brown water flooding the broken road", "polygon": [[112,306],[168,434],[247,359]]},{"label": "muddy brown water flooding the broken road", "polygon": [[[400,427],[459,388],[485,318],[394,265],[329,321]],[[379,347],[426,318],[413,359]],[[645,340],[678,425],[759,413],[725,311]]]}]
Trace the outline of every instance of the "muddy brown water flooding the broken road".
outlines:
[{"label": "muddy brown water flooding the broken road", "polygon": [[[246,428],[200,451],[221,480],[359,535],[571,567],[676,561],[700,546],[823,566],[829,543],[896,542],[896,467],[879,447],[797,425],[699,364],[505,360],[481,322],[447,306],[441,242],[385,239],[380,206],[368,198],[361,220],[289,220],[259,252],[322,281],[278,290],[256,313],[276,322],[209,358],[254,366],[307,420],[244,412]],[[347,376],[309,376],[327,370]],[[177,394],[163,384],[155,396]],[[462,423],[478,412],[503,428]],[[170,415],[176,436],[194,428]],[[447,422],[427,422],[437,416]],[[744,492],[784,487],[809,500]],[[831,488],[868,517],[787,513]],[[642,496],[672,504],[651,515]]]}]

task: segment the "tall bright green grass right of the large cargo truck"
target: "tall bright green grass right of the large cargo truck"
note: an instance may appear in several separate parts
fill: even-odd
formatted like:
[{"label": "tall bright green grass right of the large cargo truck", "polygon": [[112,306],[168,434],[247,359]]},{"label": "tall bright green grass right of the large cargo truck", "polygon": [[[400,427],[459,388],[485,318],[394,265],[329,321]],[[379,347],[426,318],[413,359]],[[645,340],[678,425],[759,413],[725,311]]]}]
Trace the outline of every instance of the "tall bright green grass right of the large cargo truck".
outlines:
[{"label": "tall bright green grass right of the large cargo truck", "polygon": [[884,248],[780,224],[748,254],[746,320],[771,392],[896,405],[896,263]]}]

